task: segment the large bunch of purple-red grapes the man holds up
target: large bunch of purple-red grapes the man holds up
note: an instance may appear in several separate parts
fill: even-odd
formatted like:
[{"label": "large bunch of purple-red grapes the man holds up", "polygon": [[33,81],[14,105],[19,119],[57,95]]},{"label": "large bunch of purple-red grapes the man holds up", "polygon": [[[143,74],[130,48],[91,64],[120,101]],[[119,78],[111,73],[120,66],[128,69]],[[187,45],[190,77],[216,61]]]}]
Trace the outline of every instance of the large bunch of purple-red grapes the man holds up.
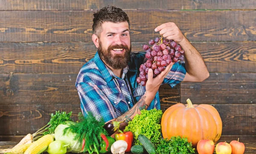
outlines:
[{"label": "large bunch of purple-red grapes the man holds up", "polygon": [[184,60],[184,50],[174,40],[157,37],[149,40],[148,44],[152,47],[143,45],[147,61],[140,65],[140,75],[137,77],[137,83],[142,86],[145,86],[148,80],[148,69],[153,70],[153,78],[155,78],[171,62]]}]

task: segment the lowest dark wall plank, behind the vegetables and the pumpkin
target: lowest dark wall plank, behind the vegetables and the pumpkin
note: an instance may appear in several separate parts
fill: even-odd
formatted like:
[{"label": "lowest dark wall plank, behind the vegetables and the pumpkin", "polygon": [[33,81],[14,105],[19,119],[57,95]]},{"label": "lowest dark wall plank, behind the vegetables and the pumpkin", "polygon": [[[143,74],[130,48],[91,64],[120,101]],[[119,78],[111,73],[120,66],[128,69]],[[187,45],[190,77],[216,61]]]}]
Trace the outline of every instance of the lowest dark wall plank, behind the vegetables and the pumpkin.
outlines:
[{"label": "lowest dark wall plank, behind the vegetables and the pumpkin", "polygon": [[[169,105],[162,105],[166,109]],[[256,104],[214,104],[223,123],[222,135],[255,135]],[[49,122],[50,113],[55,110],[73,111],[76,118],[80,112],[80,104],[48,104],[48,105],[1,105],[0,135],[25,135],[36,132]],[[246,111],[246,112],[244,112]]]}]

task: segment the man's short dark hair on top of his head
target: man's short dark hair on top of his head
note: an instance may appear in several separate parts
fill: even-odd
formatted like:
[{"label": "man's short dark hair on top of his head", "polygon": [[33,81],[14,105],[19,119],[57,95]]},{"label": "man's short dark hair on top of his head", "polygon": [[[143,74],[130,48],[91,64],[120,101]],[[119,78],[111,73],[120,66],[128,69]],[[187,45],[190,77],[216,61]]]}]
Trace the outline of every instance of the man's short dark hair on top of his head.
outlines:
[{"label": "man's short dark hair on top of his head", "polygon": [[128,15],[122,11],[121,8],[116,8],[115,6],[106,6],[96,13],[93,14],[93,34],[99,35],[99,28],[102,26],[103,22],[128,22],[130,29],[130,21]]}]

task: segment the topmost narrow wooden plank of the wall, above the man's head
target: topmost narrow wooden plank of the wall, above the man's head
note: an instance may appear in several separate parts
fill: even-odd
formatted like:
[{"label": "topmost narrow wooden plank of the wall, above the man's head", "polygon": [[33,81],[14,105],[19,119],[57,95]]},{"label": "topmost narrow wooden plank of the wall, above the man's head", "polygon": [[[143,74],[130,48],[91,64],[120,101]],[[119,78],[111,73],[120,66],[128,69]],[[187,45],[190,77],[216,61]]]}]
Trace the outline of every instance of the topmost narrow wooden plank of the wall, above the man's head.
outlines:
[{"label": "topmost narrow wooden plank of the wall, above the man's head", "polygon": [[253,0],[0,0],[0,10],[90,10],[113,5],[123,9],[255,9]]}]

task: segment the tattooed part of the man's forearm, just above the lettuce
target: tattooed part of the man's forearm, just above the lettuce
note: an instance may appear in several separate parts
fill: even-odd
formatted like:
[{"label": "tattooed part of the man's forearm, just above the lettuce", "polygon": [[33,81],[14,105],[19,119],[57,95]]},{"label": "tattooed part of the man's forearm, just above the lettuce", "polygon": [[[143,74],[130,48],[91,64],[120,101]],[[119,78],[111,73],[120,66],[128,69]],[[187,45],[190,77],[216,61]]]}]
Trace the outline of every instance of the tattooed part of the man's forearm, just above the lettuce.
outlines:
[{"label": "tattooed part of the man's forearm, just above the lettuce", "polygon": [[124,121],[124,124],[128,124],[129,121],[132,120],[131,116],[134,115],[134,113],[137,111],[137,113],[140,113],[141,110],[146,109],[148,105],[145,102],[145,96],[143,96],[140,101],[137,102],[137,106],[134,106],[129,111],[125,112],[120,117],[116,118],[116,121]]}]

